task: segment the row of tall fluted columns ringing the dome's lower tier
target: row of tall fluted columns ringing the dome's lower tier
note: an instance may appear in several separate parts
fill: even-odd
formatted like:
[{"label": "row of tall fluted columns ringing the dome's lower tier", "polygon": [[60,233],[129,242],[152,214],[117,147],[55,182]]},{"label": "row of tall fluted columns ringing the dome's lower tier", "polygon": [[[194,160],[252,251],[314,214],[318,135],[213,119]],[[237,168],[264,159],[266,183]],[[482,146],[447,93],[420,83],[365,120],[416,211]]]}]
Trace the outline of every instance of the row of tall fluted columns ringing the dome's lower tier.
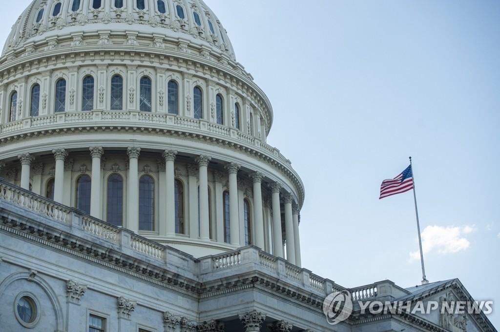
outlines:
[{"label": "row of tall fluted columns ringing the dome's lower tier", "polygon": [[[92,158],[92,176],[91,176],[91,187],[90,187],[90,215],[103,219],[102,216],[102,191],[103,191],[103,181],[101,176],[101,159],[104,154],[104,149],[100,146],[89,147],[90,156]],[[65,149],[53,149],[52,153],[55,159],[55,171],[54,171],[54,195],[53,199],[56,202],[62,203],[64,195],[64,160],[68,156],[68,152]],[[126,196],[126,213],[127,220],[124,220],[123,226],[130,229],[131,231],[138,233],[138,201],[139,201],[139,179],[138,179],[138,159],[140,156],[139,147],[128,147],[126,150],[128,156],[128,177],[127,177],[127,196]],[[165,216],[160,217],[160,223],[158,227],[158,233],[160,236],[174,237],[175,236],[175,169],[174,161],[177,156],[177,151],[174,150],[164,150],[162,152],[162,157],[165,161],[164,176],[160,177],[162,183],[159,185],[164,185],[164,202],[160,202],[162,208],[161,213]],[[29,177],[30,177],[30,165],[34,161],[34,156],[29,153],[24,153],[18,156],[21,163],[21,181],[20,186],[24,189],[29,189]],[[189,197],[191,202],[198,201],[199,206],[199,234],[198,234],[198,224],[197,221],[189,220],[190,236],[192,238],[198,238],[201,241],[211,241],[210,240],[210,218],[209,218],[209,196],[208,196],[208,165],[211,158],[205,155],[198,155],[194,158],[197,163],[198,172],[198,185],[199,185],[199,198],[195,197],[197,191],[196,188],[196,167],[188,168],[189,179]],[[194,166],[194,165],[191,165]],[[229,231],[230,231],[230,244],[236,247],[240,247],[243,244],[240,243],[240,232],[244,231],[240,229],[240,202],[241,198],[238,199],[238,171],[241,165],[235,162],[228,162],[224,165],[225,170],[228,173],[228,188],[229,188]],[[218,175],[220,178],[222,175]],[[293,204],[293,195],[291,193],[282,193],[283,185],[279,182],[270,183],[269,189],[271,191],[271,206],[270,211],[272,214],[271,219],[271,229],[268,232],[272,235],[272,239],[266,247],[265,237],[266,229],[264,228],[264,215],[262,209],[262,179],[264,174],[255,171],[248,174],[249,178],[253,182],[253,209],[251,211],[251,234],[252,241],[251,244],[266,250],[273,254],[274,256],[284,258],[285,252],[283,250],[284,242],[282,238],[282,227],[281,227],[281,201],[284,206],[284,232],[286,238],[286,259],[288,262],[300,266],[300,242],[299,242],[299,232],[298,232],[298,213],[299,209],[296,204]],[[192,178],[191,178],[192,177]],[[215,176],[214,176],[215,177]],[[67,181],[67,179],[66,179]],[[191,183],[194,183],[192,186]],[[222,196],[222,186],[215,187],[215,195]],[[223,203],[223,202],[222,202]],[[219,201],[217,200],[217,203]],[[220,205],[220,204],[219,204]],[[161,215],[160,213],[160,215]],[[192,218],[195,219],[195,218]],[[218,229],[218,227],[217,227]],[[212,238],[222,237],[220,231]],[[267,242],[269,242],[267,238]]]}]

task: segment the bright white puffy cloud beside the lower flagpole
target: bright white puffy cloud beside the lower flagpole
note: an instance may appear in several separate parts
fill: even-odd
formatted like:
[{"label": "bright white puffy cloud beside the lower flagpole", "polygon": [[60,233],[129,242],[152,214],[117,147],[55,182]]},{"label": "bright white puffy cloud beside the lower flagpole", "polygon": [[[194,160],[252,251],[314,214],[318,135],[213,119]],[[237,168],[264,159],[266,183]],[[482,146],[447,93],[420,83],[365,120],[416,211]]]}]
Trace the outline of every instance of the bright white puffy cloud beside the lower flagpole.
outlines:
[{"label": "bright white puffy cloud beside the lower flagpole", "polygon": [[[470,243],[464,237],[474,230],[474,226],[427,226],[421,234],[423,254],[437,251],[439,254],[453,254],[466,250]],[[498,234],[500,237],[500,234]],[[420,252],[409,253],[409,261],[420,260]]]}]

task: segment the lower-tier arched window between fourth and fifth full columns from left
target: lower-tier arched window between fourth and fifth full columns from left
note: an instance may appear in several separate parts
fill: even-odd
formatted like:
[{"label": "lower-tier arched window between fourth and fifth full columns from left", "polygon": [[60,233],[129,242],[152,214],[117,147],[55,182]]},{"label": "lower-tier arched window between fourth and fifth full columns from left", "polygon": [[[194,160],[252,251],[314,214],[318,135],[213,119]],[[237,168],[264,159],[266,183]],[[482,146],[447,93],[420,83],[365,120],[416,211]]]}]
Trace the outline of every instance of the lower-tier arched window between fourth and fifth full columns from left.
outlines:
[{"label": "lower-tier arched window between fourth and fifth full columns from left", "polygon": [[149,175],[139,180],[139,230],[154,231],[154,180]]}]

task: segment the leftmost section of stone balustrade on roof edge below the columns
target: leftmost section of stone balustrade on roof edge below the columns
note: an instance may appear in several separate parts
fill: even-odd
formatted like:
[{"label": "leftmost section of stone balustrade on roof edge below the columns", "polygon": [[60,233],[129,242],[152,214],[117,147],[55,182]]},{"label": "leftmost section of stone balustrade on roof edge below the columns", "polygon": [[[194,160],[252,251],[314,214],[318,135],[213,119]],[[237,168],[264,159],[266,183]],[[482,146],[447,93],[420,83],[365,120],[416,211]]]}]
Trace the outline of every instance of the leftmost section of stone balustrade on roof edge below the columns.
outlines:
[{"label": "leftmost section of stone balustrade on roof edge below the columns", "polygon": [[64,205],[11,185],[4,180],[0,180],[0,199],[64,224],[69,224],[71,220],[71,210]]}]

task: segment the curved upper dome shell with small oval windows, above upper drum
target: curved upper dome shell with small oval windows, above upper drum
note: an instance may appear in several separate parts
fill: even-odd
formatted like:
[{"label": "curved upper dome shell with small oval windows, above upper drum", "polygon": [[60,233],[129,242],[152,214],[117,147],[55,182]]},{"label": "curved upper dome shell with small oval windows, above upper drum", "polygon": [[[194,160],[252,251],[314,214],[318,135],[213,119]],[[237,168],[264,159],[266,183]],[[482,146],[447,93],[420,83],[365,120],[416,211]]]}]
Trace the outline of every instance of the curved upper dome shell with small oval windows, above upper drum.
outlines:
[{"label": "curved upper dome shell with small oval windows, above upper drum", "polygon": [[[33,0],[12,26],[2,55],[57,36],[63,39],[84,31],[86,35],[109,31],[121,39],[134,31],[150,44],[161,39],[177,45],[179,40],[234,60],[225,29],[201,0]],[[122,42],[122,40],[120,40]],[[139,44],[145,40],[139,40]]]}]

